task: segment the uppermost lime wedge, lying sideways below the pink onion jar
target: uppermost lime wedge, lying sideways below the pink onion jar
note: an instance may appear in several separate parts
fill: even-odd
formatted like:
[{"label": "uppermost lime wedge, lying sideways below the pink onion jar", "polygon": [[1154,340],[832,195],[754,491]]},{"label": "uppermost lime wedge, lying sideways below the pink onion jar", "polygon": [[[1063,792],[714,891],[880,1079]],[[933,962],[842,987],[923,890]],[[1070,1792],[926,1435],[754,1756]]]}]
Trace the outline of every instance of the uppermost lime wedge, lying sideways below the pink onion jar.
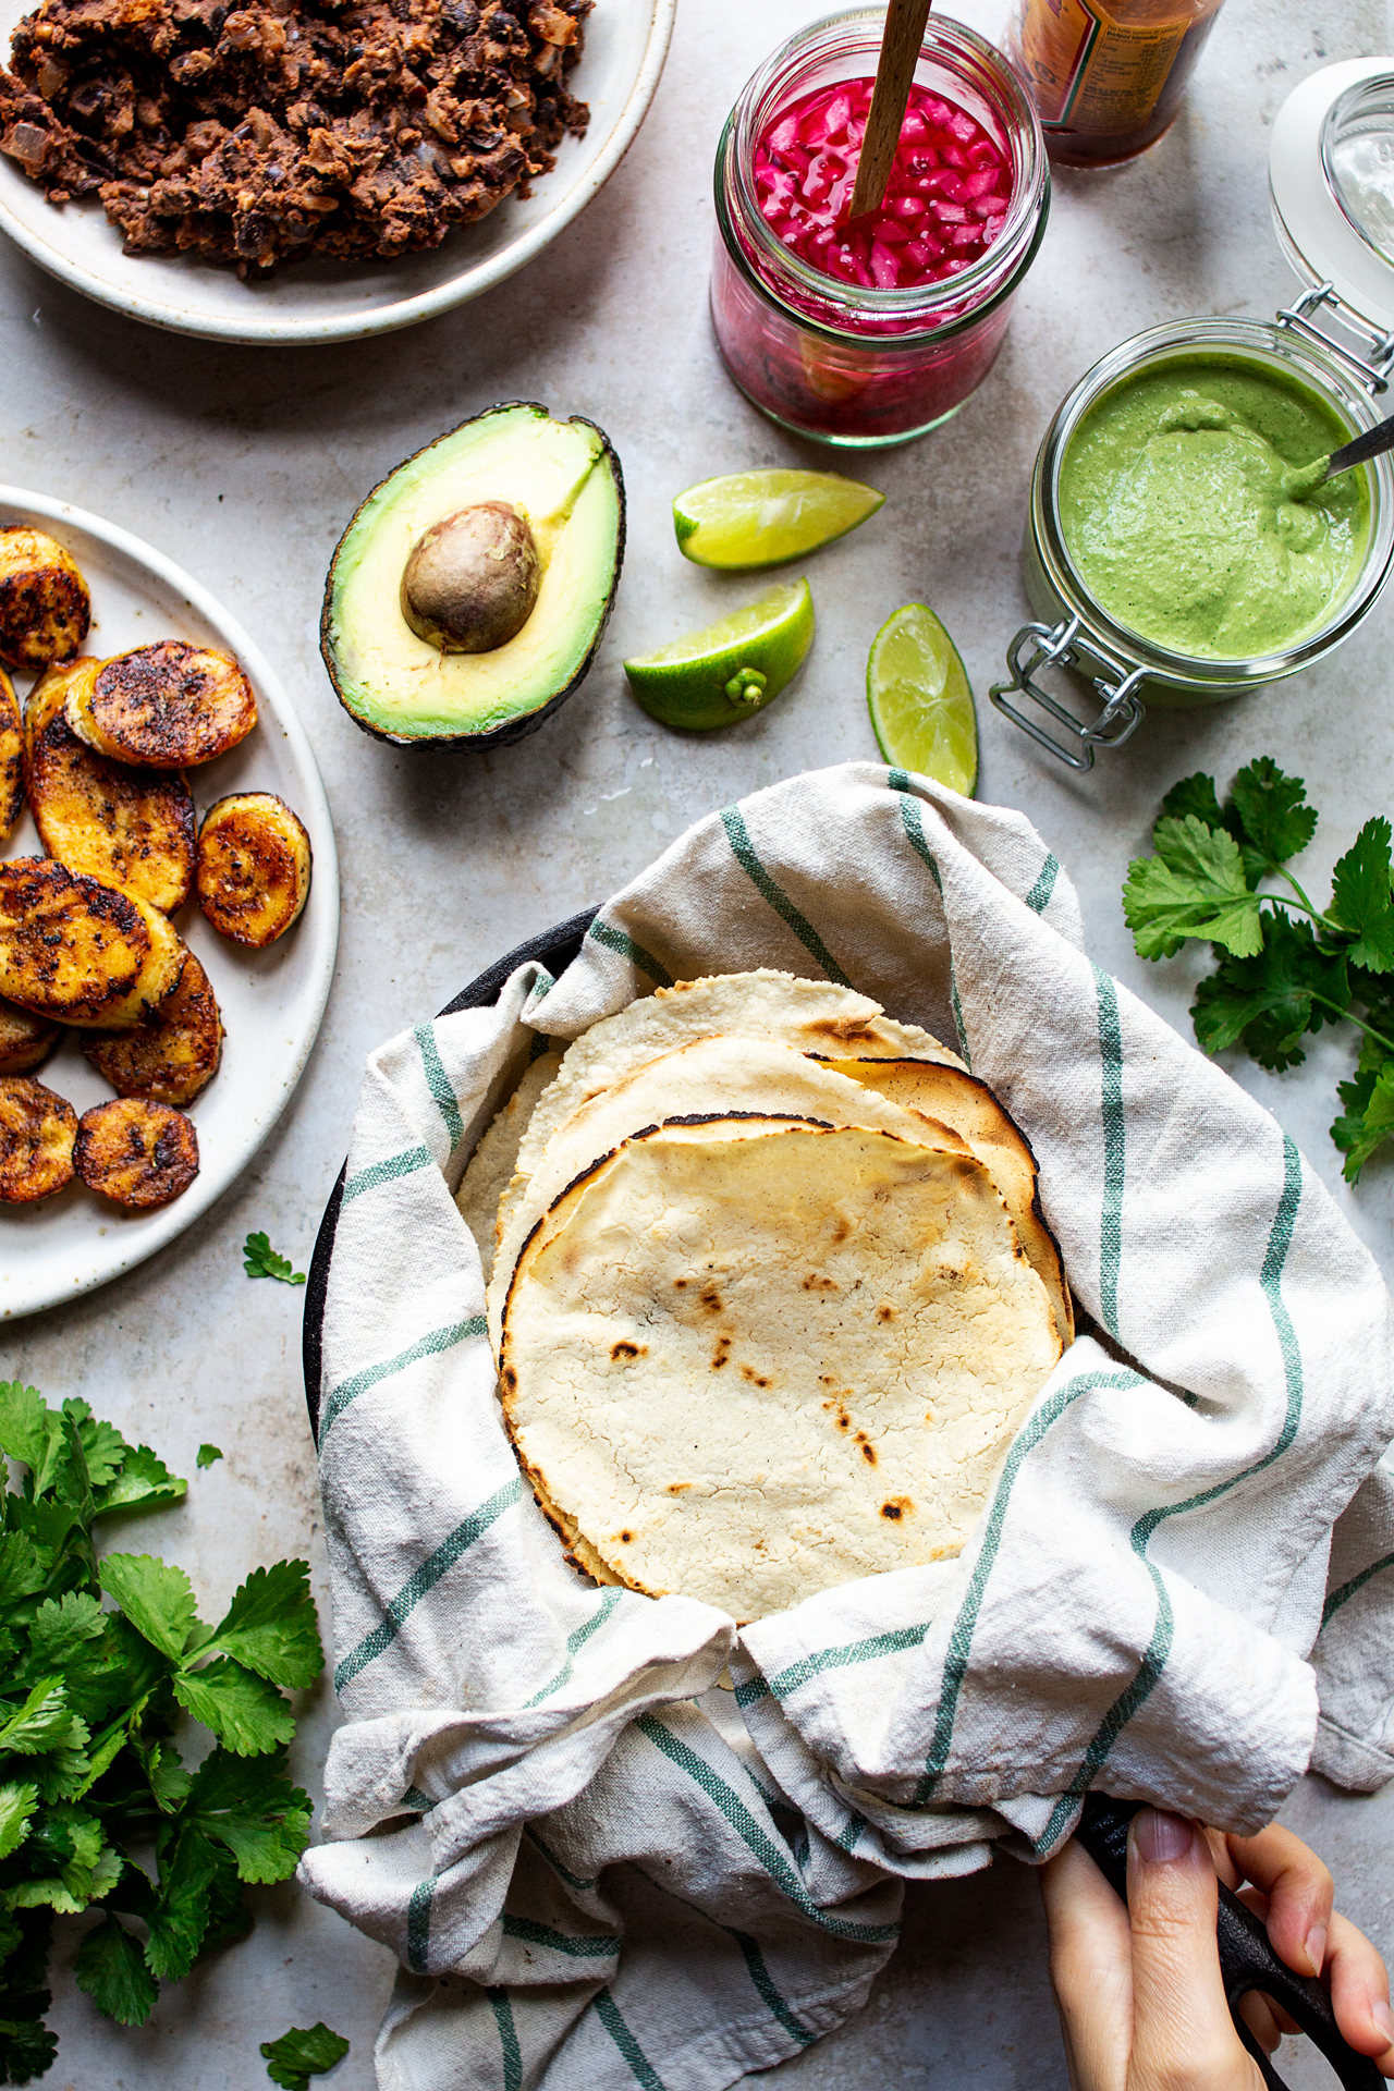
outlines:
[{"label": "uppermost lime wedge, lying sideways below the pink onion jar", "polygon": [[679,493],[673,529],[698,567],[782,567],[846,537],[884,500],[842,473],[731,473]]}]

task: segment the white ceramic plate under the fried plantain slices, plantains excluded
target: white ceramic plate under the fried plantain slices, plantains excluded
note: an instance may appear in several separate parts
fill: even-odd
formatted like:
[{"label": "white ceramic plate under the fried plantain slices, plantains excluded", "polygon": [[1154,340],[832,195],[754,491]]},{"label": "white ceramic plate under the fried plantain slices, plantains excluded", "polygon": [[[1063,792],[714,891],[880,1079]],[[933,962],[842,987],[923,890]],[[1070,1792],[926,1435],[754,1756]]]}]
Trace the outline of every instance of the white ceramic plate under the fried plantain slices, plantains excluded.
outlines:
[{"label": "white ceramic plate under the fried plantain slices, plantains excluded", "polygon": [[[69,1184],[36,1207],[0,1204],[0,1319],[107,1284],[207,1213],[291,1102],[324,1016],[339,943],[339,859],[328,801],[305,730],[265,654],[173,560],[100,516],[42,493],[0,487],[0,525],[10,523],[46,529],[82,567],[92,590],[90,652],[113,654],[180,638],[236,654],[257,692],[257,728],[230,755],[188,772],[194,807],[203,818],[226,792],[278,792],[309,830],[313,876],[299,922],[265,951],[226,943],[203,920],[196,901],[176,916],[180,935],[203,960],[228,1031],[217,1075],[188,1106],[199,1131],[199,1175],[182,1198],[157,1213],[121,1213],[84,1184]],[[29,813],[0,855],[42,855]],[[79,1115],[111,1098],[73,1031],[52,1060],[36,1069],[36,1079]]]}]

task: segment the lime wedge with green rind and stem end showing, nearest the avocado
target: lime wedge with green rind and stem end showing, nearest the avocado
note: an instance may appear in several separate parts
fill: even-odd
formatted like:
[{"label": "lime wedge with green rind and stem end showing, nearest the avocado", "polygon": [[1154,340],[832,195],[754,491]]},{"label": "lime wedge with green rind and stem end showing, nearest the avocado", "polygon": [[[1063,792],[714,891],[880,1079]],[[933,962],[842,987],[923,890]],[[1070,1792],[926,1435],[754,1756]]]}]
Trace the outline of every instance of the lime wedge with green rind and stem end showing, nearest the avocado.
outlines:
[{"label": "lime wedge with green rind and stem end showing, nearest the avocado", "polygon": [[788,581],[702,631],[625,661],[625,675],[650,717],[706,732],[761,711],[794,677],[811,644],[809,583]]}]

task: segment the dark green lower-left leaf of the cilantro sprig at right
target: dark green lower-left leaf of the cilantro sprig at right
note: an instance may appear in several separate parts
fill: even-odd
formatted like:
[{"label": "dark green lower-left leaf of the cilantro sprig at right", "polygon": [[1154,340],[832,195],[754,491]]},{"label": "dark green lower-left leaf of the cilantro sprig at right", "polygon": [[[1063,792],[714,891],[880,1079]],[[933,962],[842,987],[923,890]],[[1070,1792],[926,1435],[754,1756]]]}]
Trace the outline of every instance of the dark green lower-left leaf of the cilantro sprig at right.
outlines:
[{"label": "dark green lower-left leaf of the cilantro sprig at right", "polygon": [[1335,1022],[1348,1002],[1344,956],[1323,949],[1306,922],[1275,912],[1264,916],[1262,951],[1223,953],[1218,968],[1198,983],[1191,1022],[1202,1052],[1244,1043],[1260,1066],[1285,1069],[1306,1058],[1302,1035]]}]

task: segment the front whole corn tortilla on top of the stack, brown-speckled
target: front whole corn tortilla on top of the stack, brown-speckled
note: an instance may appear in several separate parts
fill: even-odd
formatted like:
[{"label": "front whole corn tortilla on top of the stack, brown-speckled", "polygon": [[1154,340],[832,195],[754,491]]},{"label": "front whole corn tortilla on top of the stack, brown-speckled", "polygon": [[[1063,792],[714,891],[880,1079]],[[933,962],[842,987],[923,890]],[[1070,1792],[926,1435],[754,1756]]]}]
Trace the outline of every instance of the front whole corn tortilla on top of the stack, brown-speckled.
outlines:
[{"label": "front whole corn tortilla on top of the stack, brown-speckled", "polygon": [[606,1579],[738,1621],[957,1554],[1058,1357],[972,1154],[748,1119],[562,1190],[499,1340],[543,1508]]}]

